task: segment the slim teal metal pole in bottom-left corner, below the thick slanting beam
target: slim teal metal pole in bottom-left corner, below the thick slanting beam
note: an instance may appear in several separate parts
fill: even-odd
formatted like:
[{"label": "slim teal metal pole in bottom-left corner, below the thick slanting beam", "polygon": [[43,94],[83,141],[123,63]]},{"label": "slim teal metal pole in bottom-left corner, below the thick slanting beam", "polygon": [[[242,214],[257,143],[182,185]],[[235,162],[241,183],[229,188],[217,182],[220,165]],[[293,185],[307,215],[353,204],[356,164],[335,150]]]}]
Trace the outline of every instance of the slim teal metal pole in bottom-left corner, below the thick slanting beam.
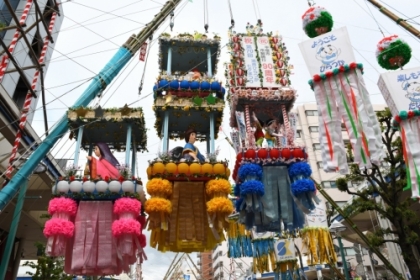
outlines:
[{"label": "slim teal metal pole in bottom-left corner, below the thick slanting beam", "polygon": [[10,254],[15,243],[16,231],[20,221],[20,214],[22,212],[23,203],[25,201],[26,189],[28,188],[28,182],[24,182],[20,187],[18,200],[13,212],[12,224],[10,225],[9,235],[7,236],[6,248],[4,249],[3,256],[0,264],[0,279],[6,278],[7,266],[9,264]]}]

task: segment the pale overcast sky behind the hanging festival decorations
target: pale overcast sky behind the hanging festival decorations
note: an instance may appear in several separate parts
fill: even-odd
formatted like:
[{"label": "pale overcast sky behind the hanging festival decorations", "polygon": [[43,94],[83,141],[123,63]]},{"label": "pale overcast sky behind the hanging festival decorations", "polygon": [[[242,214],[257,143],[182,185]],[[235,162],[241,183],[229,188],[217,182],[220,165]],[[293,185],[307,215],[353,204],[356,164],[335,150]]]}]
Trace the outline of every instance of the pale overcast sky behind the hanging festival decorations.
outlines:
[{"label": "pale overcast sky behind the hanging festival decorations", "polygon": [[[227,30],[230,26],[229,0],[211,0],[209,2],[209,33],[217,33],[222,37],[222,54],[217,77],[224,80],[223,62],[228,61]],[[145,24],[160,10],[163,0],[72,0],[62,3],[61,16],[64,17],[58,41],[53,45],[55,52],[50,63],[45,86],[47,91],[48,121],[52,126],[63,112],[82,94],[87,79],[95,76],[113,56],[116,50],[131,34],[138,33]],[[204,32],[203,0],[184,0],[177,8],[174,32]],[[247,22],[255,24],[261,18],[265,31],[278,31],[286,43],[290,63],[294,65],[294,75],[291,76],[292,86],[299,95],[296,104],[315,102],[314,94],[307,81],[310,79],[301,57],[298,43],[308,38],[302,31],[301,16],[308,9],[305,0],[280,1],[258,0],[258,9],[254,9],[252,0],[230,0],[236,22],[236,31],[244,32]],[[418,0],[386,0],[379,1],[390,5],[390,8],[401,18],[413,18],[411,24],[420,29],[420,2]],[[390,19],[364,0],[327,1],[319,0],[317,5],[325,7],[333,16],[334,28],[346,26],[350,35],[357,62],[364,64],[365,81],[374,104],[384,103],[376,86],[379,74],[385,72],[376,62],[375,49],[377,42],[383,37],[378,24],[386,36],[398,34],[407,41],[413,50],[413,58],[405,68],[420,65],[419,40],[408,34]],[[396,10],[394,10],[396,9]],[[169,32],[166,21],[155,33],[157,38],[164,30]],[[153,128],[155,119],[151,110],[153,98],[153,83],[158,75],[157,44],[152,44],[149,61],[146,66],[145,84],[142,95],[138,95],[138,85],[144,71],[144,62],[139,62],[138,53],[123,69],[122,73],[106,89],[101,100],[94,100],[92,105],[102,107],[122,107],[126,103],[143,107],[148,129],[148,153],[138,155],[139,176],[145,178],[147,160],[153,159],[161,145]],[[76,88],[77,87],[77,88]],[[76,89],[74,89],[76,88]],[[72,90],[73,89],[73,90]],[[69,92],[72,90],[71,92]],[[69,93],[68,93],[69,92]],[[64,95],[63,95],[64,94]],[[63,95],[63,96],[62,96]],[[56,97],[62,96],[59,99]],[[141,99],[143,98],[143,99]],[[55,101],[53,101],[55,100]],[[41,102],[38,103],[41,106]],[[44,133],[42,111],[38,110],[33,126],[41,135]],[[229,132],[228,108],[225,110],[223,122],[224,131]],[[234,161],[234,152],[220,137],[216,147],[220,146],[223,157]],[[73,158],[74,141],[62,140],[53,151],[57,158]],[[205,144],[199,145],[204,150]],[[173,144],[171,144],[173,147]],[[82,157],[81,157],[82,158]],[[83,158],[82,158],[83,159]],[[122,161],[124,155],[119,155]],[[81,162],[83,163],[83,162]],[[149,260],[143,265],[144,279],[162,279],[168,269],[174,254],[160,253],[148,248]],[[195,254],[192,255],[196,259]]]}]

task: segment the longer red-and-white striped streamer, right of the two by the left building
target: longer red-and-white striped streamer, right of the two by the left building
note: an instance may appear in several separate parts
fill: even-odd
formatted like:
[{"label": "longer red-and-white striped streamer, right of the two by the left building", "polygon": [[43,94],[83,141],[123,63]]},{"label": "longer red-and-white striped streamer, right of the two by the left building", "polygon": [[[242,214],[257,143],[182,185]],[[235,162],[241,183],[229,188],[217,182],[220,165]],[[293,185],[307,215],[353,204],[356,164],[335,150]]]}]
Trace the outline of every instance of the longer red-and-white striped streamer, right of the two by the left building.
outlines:
[{"label": "longer red-and-white striped streamer, right of the two by the left building", "polygon": [[[51,17],[50,25],[48,27],[48,30],[50,30],[50,32],[54,28],[56,16],[57,16],[57,13],[54,12],[52,17]],[[42,64],[44,62],[45,54],[47,53],[49,43],[50,43],[50,40],[48,39],[48,36],[46,36],[45,39],[44,39],[44,45],[42,47],[41,55],[38,59],[40,64]],[[40,71],[39,71],[39,69],[37,69],[35,71],[34,78],[32,79],[32,84],[31,84],[32,90],[36,90],[36,85],[38,84],[39,73],[40,73]],[[28,93],[26,94],[26,97],[25,97],[25,103],[23,104],[23,108],[22,108],[22,115],[20,116],[19,129],[16,133],[15,142],[14,142],[13,148],[12,148],[12,154],[10,155],[10,158],[9,158],[9,166],[7,167],[6,174],[5,174],[7,176],[7,178],[9,178],[9,179],[10,179],[11,174],[13,172],[13,161],[15,160],[17,151],[19,149],[20,140],[22,138],[22,131],[25,128],[25,125],[26,125],[28,112],[29,112],[29,109],[31,107],[31,101],[32,101],[32,93],[31,93],[31,91],[28,90]]]}]

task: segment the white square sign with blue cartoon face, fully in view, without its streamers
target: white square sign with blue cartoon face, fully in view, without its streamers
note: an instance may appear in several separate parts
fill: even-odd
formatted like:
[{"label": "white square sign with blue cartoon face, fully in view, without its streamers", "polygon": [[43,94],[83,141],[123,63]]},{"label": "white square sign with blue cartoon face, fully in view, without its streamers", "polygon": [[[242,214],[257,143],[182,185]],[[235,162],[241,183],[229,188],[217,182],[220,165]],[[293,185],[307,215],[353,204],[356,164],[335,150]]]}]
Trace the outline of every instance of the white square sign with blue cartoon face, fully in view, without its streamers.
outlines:
[{"label": "white square sign with blue cartoon face, fully in view, without its streamers", "polygon": [[311,76],[356,62],[345,27],[304,41],[299,48]]}]

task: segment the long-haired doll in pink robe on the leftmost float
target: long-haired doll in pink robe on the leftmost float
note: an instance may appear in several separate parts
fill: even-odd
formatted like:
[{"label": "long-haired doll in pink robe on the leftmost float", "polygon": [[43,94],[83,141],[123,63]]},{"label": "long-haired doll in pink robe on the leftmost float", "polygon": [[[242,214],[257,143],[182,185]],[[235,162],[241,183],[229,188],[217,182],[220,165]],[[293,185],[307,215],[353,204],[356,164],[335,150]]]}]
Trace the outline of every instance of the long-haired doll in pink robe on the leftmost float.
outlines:
[{"label": "long-haired doll in pink robe on the leftmost float", "polygon": [[117,179],[120,173],[117,169],[119,166],[118,160],[114,157],[106,143],[97,143],[94,146],[94,154],[96,157],[87,156],[89,160],[89,170],[91,179],[106,177],[110,179]]}]

